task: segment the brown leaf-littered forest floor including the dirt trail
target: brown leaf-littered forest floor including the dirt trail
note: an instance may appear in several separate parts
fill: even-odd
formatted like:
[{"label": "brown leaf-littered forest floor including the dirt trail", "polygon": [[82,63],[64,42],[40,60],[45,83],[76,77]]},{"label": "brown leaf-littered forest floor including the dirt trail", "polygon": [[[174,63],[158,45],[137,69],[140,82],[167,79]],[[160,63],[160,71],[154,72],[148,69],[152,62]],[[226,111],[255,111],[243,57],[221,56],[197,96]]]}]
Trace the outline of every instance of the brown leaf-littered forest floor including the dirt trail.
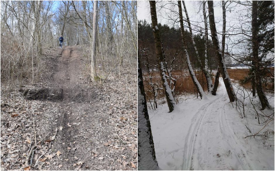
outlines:
[{"label": "brown leaf-littered forest floor including the dirt trail", "polygon": [[[33,170],[24,168],[28,151],[35,143],[33,118],[37,142],[50,133],[46,139],[50,141],[42,142],[34,150],[32,165],[37,170],[136,170],[136,69],[121,70],[121,78],[110,74],[98,90],[85,79],[85,71],[79,67],[87,63],[81,57],[82,47],[70,48],[74,50],[70,57],[66,56],[66,50],[50,48],[44,58],[48,70],[42,73],[40,83],[24,85],[26,89],[63,86],[61,102],[56,98],[26,100],[19,91],[6,93],[7,87],[1,85],[1,94],[7,94],[1,96],[1,106],[7,104],[1,107],[2,170]],[[56,57],[58,52],[62,56]],[[64,59],[74,62],[62,65]],[[65,83],[53,81],[52,78],[58,78],[56,72],[62,70],[70,73],[71,79]]]}]

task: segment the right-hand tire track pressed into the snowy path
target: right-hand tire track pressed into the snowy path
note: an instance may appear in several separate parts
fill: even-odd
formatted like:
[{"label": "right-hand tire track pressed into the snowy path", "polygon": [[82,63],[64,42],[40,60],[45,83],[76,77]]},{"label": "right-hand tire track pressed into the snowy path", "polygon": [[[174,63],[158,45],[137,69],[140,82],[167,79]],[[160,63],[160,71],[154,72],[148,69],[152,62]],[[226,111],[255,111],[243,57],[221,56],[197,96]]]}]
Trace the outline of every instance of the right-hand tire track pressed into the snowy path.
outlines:
[{"label": "right-hand tire track pressed into the snowy path", "polygon": [[[224,112],[225,105],[226,104],[224,104],[219,111],[219,126],[220,126],[220,130],[221,130],[221,134],[222,134],[223,138],[227,140],[226,142],[227,142],[228,146],[230,147],[231,151],[233,151],[233,153],[231,153],[231,154],[234,155],[236,159],[238,159],[240,165],[242,166],[242,170],[252,170],[252,168],[250,167],[250,164],[246,160],[245,154],[243,153],[243,149],[240,148],[241,144],[238,146],[235,146],[234,148],[231,146],[232,142],[233,142],[233,144],[238,144],[238,142],[236,141],[234,135],[232,135],[233,131],[231,129],[231,126],[226,121],[227,120],[226,113]],[[225,116],[225,118],[224,118],[224,116]],[[238,147],[238,148],[236,149],[236,147]],[[248,167],[246,167],[246,166],[248,166]]]}]

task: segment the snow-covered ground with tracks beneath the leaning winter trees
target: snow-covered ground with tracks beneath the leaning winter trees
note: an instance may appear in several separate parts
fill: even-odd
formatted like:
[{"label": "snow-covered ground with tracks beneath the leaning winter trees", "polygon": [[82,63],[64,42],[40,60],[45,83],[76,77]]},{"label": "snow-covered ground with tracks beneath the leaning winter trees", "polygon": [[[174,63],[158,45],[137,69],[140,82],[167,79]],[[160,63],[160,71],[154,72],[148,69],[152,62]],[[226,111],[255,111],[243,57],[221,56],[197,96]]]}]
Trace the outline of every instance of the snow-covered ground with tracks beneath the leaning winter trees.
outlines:
[{"label": "snow-covered ground with tracks beneath the leaning winter trees", "polygon": [[[237,96],[240,98],[238,93]],[[256,98],[252,100],[257,103]],[[273,109],[264,110],[265,114],[274,113],[274,96],[269,97],[269,102]],[[244,138],[251,135],[246,127],[255,134],[265,125],[259,126],[249,98],[244,104],[246,117],[242,118],[229,102],[220,78],[216,96],[207,95],[207,100],[196,99],[194,95],[182,96],[178,109],[171,113],[167,104],[150,110],[160,169],[274,170],[274,120],[262,130],[272,130],[273,141],[263,144],[258,136]],[[255,107],[259,109],[259,105]]]}]

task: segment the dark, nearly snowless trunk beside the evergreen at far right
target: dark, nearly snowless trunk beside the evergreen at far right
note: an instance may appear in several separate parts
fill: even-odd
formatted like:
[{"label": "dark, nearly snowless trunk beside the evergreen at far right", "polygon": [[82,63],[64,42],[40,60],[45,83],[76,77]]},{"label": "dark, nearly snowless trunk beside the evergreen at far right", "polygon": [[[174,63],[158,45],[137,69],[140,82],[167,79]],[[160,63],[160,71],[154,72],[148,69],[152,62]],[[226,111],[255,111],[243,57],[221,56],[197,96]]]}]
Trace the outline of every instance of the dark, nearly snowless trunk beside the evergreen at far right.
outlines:
[{"label": "dark, nearly snowless trunk beside the evergreen at far right", "polygon": [[258,23],[257,23],[257,13],[258,13],[258,3],[257,1],[252,1],[252,43],[253,43],[253,60],[254,60],[254,74],[255,74],[255,84],[259,100],[262,104],[262,109],[266,107],[270,108],[267,97],[264,94],[261,83],[260,68],[259,68],[259,42],[258,42]]}]

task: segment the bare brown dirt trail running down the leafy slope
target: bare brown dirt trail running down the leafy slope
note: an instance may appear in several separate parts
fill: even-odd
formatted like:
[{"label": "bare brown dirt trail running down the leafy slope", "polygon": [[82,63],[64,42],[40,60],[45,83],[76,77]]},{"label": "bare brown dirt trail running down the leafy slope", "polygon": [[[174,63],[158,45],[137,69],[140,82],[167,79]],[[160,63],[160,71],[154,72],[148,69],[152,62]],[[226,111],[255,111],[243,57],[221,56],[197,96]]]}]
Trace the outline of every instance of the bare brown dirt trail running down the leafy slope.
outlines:
[{"label": "bare brown dirt trail running down the leafy slope", "polygon": [[[87,123],[87,121],[93,120],[92,117],[97,118],[94,115],[98,106],[97,93],[92,88],[83,87],[78,79],[81,75],[82,63],[77,50],[74,47],[66,46],[59,55],[61,56],[59,57],[58,72],[54,76],[53,82],[62,90],[63,100],[59,103],[62,113],[59,124],[62,129],[59,130],[53,146],[61,151],[63,160],[55,159],[55,161],[63,165],[66,170],[75,170],[73,163],[78,163],[79,160],[85,165],[93,164],[91,160],[87,160],[87,156],[91,156],[90,150],[83,149],[91,149],[92,140],[94,141],[92,138],[93,124]],[[102,118],[105,117],[102,116]]]}]

